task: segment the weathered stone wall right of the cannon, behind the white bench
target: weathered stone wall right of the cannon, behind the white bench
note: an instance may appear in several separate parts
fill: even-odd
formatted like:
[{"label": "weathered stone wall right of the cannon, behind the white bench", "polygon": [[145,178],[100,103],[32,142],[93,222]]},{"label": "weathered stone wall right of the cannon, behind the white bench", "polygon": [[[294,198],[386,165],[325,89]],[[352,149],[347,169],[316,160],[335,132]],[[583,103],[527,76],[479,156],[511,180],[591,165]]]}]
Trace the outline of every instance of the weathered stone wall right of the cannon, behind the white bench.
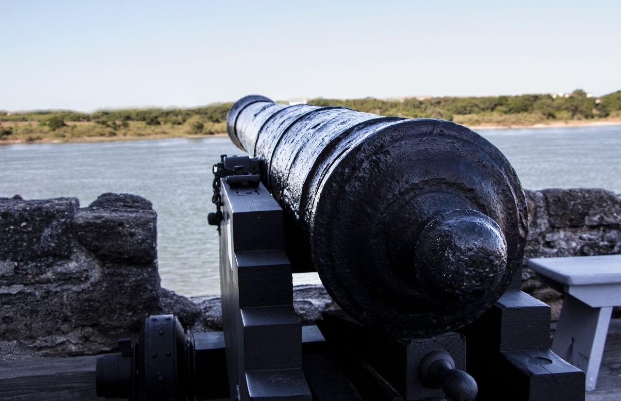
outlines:
[{"label": "weathered stone wall right of the cannon, behind the white bench", "polygon": [[[525,190],[531,257],[592,256],[621,253],[621,196],[602,189]],[[553,307],[558,318],[561,294],[524,267],[522,289]],[[618,312],[617,312],[618,313]]]}]

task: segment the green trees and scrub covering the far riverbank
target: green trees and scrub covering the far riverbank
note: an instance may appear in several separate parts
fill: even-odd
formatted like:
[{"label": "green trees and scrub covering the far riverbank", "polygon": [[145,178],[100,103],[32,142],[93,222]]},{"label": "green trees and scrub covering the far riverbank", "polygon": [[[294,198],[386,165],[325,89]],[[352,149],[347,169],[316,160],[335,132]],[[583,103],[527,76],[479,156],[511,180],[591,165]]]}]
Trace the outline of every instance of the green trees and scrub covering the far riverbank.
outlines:
[{"label": "green trees and scrub covering the far riverbank", "polygon": [[[599,98],[584,90],[571,94],[522,94],[403,99],[324,99],[309,100],[317,106],[344,106],[366,113],[405,118],[438,118],[465,125],[525,126],[548,121],[621,118],[621,91]],[[79,136],[159,136],[208,135],[226,131],[226,116],[232,103],[218,103],[191,109],[122,109],[94,113],[76,111],[31,111],[0,113],[0,139],[9,139],[18,129],[40,139]],[[6,122],[36,122],[19,128]],[[2,122],[5,122],[2,125]],[[95,125],[76,126],[85,122]],[[38,127],[38,128],[37,128]],[[93,128],[94,127],[94,128]],[[90,131],[88,131],[90,130]],[[33,136],[34,135],[34,136]]]}]

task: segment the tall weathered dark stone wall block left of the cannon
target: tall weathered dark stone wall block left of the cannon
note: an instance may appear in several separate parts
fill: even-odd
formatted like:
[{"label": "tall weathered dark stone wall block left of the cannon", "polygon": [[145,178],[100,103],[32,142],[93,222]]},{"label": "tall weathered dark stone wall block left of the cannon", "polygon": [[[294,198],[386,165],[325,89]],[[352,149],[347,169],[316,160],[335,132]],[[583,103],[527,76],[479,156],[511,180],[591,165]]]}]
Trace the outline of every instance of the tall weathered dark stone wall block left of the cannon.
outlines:
[{"label": "tall weathered dark stone wall block left of the cannon", "polygon": [[161,310],[150,203],[93,204],[0,198],[0,358],[107,351]]}]

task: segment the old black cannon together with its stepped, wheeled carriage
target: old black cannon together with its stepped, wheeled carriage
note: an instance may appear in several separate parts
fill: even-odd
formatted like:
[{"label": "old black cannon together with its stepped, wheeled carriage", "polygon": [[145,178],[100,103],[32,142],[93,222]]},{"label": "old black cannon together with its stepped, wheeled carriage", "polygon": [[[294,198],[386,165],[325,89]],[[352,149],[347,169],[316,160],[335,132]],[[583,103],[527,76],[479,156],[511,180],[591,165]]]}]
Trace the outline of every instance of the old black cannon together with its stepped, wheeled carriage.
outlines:
[{"label": "old black cannon together with its stepped, wheeled carriage", "polygon": [[[132,400],[581,400],[549,349],[550,308],[521,292],[524,192],[470,129],[247,96],[248,153],[214,165],[223,331],[150,316],[97,362]],[[340,310],[297,322],[291,274]]]}]

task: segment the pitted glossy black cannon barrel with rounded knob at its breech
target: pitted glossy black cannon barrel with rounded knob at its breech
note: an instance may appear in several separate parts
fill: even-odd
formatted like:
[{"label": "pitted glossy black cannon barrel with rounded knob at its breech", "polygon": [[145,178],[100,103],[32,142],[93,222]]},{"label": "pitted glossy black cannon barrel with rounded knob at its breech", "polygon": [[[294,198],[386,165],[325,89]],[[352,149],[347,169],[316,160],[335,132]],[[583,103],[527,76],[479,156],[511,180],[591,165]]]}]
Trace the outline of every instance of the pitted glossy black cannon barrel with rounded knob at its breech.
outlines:
[{"label": "pitted glossy black cannon barrel with rounded knob at its breech", "polygon": [[[524,191],[470,129],[247,96],[232,141],[263,161],[295,260],[312,260],[335,302],[392,334],[430,335],[491,307],[522,264]],[[295,263],[295,262],[294,262]]]}]

